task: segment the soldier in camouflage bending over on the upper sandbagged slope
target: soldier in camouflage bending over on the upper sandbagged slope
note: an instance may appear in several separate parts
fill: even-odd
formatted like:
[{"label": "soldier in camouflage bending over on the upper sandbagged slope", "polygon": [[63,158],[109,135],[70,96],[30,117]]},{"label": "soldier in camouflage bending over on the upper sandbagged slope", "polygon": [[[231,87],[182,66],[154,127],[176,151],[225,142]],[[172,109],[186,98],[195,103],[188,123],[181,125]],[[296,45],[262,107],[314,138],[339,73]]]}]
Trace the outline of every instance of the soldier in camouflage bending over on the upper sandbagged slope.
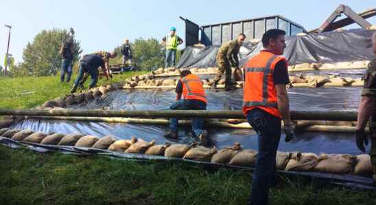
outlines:
[{"label": "soldier in camouflage bending over on the upper sandbagged slope", "polygon": [[237,54],[239,53],[240,46],[246,39],[246,35],[240,33],[237,39],[231,40],[222,44],[220,50],[217,53],[218,74],[213,79],[213,88],[218,84],[218,81],[225,74],[225,87],[226,90],[236,89],[231,82],[231,66],[237,68],[239,66],[239,59]]}]

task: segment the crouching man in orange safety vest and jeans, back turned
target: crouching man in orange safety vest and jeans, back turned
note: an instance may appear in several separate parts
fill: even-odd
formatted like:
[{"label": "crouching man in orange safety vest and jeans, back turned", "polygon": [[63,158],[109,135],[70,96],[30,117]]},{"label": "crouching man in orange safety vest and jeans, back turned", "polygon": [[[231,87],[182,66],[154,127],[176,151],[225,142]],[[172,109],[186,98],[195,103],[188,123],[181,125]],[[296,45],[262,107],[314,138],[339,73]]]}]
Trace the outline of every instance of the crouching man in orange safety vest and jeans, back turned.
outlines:
[{"label": "crouching man in orange safety vest and jeans, back turned", "polygon": [[[183,99],[181,97],[183,96]],[[207,109],[207,96],[201,79],[196,74],[191,74],[189,70],[180,72],[180,80],[176,85],[176,102],[170,109],[180,110],[205,110]],[[192,119],[193,133],[198,137],[200,145],[207,146],[207,131],[203,129],[204,120],[202,118]],[[165,137],[178,139],[178,119],[169,119],[170,131]]]}]

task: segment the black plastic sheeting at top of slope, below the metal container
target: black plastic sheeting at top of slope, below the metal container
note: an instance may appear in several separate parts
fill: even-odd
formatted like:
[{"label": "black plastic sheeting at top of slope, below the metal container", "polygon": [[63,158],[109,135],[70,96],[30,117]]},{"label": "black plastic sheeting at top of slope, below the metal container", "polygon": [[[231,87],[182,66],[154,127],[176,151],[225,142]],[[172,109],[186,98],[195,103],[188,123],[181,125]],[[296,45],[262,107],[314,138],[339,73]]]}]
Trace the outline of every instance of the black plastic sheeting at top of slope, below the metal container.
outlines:
[{"label": "black plastic sheeting at top of slope, below the metal container", "polygon": [[[314,33],[307,36],[287,36],[286,49],[283,56],[290,65],[301,63],[333,63],[340,61],[371,60],[375,56],[372,52],[372,30],[351,29],[349,31],[331,31]],[[216,66],[215,55],[219,46],[207,46],[198,49],[189,46],[184,49],[178,68],[206,68]],[[240,49],[240,64],[263,49],[262,43],[246,42]]]}]

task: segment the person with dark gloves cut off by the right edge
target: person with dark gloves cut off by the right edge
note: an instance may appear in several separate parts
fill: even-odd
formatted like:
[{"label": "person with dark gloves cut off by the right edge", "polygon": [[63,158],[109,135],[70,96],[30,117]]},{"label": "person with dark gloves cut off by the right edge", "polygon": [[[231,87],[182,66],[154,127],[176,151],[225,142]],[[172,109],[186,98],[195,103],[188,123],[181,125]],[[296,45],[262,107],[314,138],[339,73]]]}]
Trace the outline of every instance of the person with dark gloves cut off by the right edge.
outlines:
[{"label": "person with dark gloves cut off by the right edge", "polygon": [[[376,55],[376,32],[372,36],[373,53]],[[364,128],[368,120],[371,130],[371,163],[373,165],[373,183],[376,184],[376,58],[368,64],[364,74],[362,100],[357,111],[356,145],[365,152],[364,144],[368,145],[368,136]]]}]

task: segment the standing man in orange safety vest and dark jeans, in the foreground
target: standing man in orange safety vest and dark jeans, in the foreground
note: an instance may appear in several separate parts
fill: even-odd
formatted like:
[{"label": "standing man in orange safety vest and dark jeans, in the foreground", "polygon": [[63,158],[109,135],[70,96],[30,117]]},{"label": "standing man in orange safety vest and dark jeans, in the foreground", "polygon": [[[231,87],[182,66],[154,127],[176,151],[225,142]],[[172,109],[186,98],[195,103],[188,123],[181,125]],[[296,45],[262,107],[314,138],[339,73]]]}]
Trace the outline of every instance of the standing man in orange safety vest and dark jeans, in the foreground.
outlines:
[{"label": "standing man in orange safety vest and dark jeans, in the foreground", "polygon": [[243,112],[257,132],[259,154],[252,178],[251,204],[268,204],[269,187],[276,180],[276,155],[281,137],[281,118],[285,141],[294,138],[289,98],[285,85],[290,83],[285,49],[285,31],[270,29],[262,36],[264,50],[244,66]]}]

